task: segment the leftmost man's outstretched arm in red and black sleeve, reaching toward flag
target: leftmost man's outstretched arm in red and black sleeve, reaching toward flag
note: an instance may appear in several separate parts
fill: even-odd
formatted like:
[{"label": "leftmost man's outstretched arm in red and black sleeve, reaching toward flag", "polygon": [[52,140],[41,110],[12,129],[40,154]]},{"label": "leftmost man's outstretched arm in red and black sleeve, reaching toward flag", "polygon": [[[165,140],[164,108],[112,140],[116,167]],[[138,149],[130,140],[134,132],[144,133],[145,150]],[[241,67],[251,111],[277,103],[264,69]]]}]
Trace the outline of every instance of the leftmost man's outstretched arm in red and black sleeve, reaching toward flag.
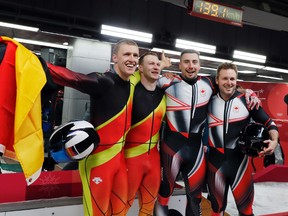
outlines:
[{"label": "leftmost man's outstretched arm in red and black sleeve, reaching toward flag", "polygon": [[114,84],[112,76],[106,73],[92,72],[82,74],[50,63],[47,66],[56,84],[75,88],[83,93],[102,94],[105,89],[110,88]]}]

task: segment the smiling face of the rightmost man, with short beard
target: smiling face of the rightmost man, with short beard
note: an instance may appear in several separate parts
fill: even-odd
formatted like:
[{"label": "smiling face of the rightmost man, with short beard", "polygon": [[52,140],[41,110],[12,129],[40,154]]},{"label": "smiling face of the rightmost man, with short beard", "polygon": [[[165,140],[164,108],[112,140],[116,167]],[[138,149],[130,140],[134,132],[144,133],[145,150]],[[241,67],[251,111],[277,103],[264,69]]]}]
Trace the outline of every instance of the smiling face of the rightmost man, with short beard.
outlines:
[{"label": "smiling face of the rightmost man, with short beard", "polygon": [[221,69],[216,77],[219,93],[224,100],[228,100],[235,92],[237,85],[237,73],[234,69]]}]

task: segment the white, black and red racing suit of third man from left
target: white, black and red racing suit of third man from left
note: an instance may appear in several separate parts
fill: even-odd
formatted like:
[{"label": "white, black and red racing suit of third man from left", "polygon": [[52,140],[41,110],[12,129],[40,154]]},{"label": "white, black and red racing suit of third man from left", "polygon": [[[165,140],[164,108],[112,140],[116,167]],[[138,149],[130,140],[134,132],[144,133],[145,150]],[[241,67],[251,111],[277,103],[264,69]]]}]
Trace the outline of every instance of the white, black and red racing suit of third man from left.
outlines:
[{"label": "white, black and red racing suit of third man from left", "polygon": [[186,187],[186,215],[200,215],[201,191],[206,172],[201,137],[208,102],[214,93],[213,81],[200,76],[192,81],[182,79],[165,91],[166,126],[160,144],[163,176],[155,205],[157,216],[168,215],[169,197],[179,172]]}]

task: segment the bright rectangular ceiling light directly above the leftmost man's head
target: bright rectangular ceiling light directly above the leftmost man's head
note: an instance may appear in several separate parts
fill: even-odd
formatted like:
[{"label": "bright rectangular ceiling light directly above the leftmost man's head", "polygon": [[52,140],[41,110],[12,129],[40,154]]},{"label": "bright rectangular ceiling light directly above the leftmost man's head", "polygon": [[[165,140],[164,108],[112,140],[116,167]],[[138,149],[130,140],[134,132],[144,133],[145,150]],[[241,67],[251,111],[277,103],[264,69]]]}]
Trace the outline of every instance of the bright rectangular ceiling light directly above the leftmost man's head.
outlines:
[{"label": "bright rectangular ceiling light directly above the leftmost man's head", "polygon": [[114,26],[102,25],[101,34],[109,35],[113,37],[129,38],[136,41],[142,41],[146,43],[152,42],[152,34],[140,31],[134,31],[130,29],[118,28]]}]

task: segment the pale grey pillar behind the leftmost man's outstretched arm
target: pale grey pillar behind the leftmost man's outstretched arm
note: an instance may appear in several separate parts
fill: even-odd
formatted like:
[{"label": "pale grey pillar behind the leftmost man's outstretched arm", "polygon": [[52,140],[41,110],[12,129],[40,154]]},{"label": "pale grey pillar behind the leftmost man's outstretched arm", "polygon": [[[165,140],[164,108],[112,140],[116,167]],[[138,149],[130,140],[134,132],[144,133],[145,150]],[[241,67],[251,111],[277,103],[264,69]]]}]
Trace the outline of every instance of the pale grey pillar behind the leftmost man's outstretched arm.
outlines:
[{"label": "pale grey pillar behind the leftmost man's outstretched arm", "polygon": [[[67,52],[66,67],[80,73],[105,72],[110,68],[111,44],[77,39]],[[82,119],[89,95],[65,87],[62,123]]]}]

